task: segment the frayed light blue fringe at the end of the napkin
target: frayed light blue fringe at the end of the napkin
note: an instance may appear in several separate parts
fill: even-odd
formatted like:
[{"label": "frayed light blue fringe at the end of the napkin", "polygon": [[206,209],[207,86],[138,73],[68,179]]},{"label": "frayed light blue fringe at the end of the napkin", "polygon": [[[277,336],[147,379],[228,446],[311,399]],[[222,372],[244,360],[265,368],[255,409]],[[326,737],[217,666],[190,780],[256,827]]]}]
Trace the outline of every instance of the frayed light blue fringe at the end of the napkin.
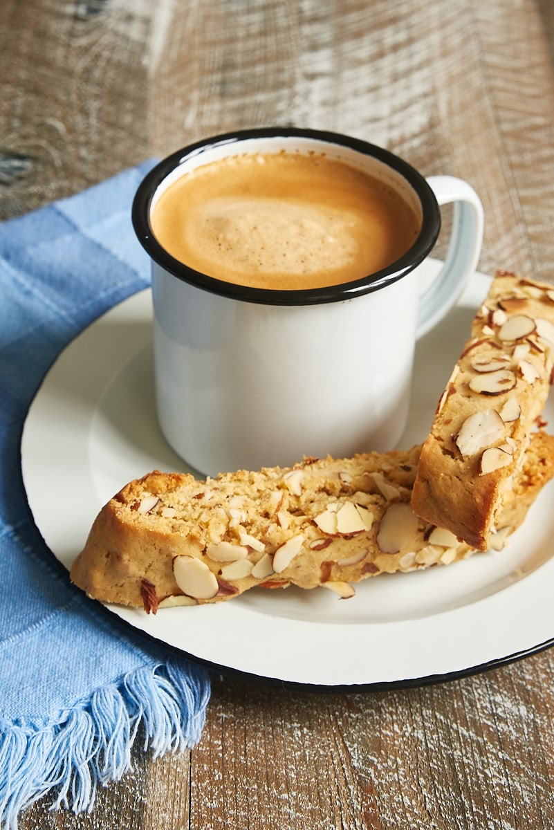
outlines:
[{"label": "frayed light blue fringe at the end of the napkin", "polygon": [[169,661],[101,687],[56,723],[0,723],[0,826],[17,830],[17,815],[51,789],[52,809],[90,813],[97,786],[132,770],[139,734],[154,757],[192,749],[209,696],[206,671]]}]

